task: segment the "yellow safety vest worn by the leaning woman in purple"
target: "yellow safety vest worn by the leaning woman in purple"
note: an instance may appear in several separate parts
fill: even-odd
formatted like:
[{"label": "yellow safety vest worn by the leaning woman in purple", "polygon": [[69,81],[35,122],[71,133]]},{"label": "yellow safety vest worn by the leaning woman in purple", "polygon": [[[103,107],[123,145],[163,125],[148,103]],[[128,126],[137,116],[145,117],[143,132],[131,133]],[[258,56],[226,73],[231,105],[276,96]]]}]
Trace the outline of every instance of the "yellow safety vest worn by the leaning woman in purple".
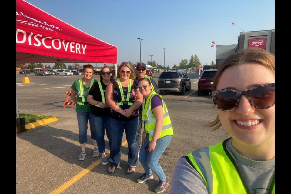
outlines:
[{"label": "yellow safety vest worn by the leaning woman in purple", "polygon": [[149,95],[147,101],[146,99],[143,100],[144,107],[142,109],[142,120],[145,122],[145,130],[146,130],[146,134],[149,134],[149,141],[152,140],[152,136],[154,134],[154,129],[156,126],[156,118],[155,118],[155,115],[152,113],[152,109],[151,109],[151,99],[155,95],[159,96],[162,99],[162,109],[163,109],[163,117],[164,117],[162,131],[159,134],[158,139],[166,135],[174,135],[169,112],[168,112],[165,102],[163,101],[162,96],[152,92]]}]

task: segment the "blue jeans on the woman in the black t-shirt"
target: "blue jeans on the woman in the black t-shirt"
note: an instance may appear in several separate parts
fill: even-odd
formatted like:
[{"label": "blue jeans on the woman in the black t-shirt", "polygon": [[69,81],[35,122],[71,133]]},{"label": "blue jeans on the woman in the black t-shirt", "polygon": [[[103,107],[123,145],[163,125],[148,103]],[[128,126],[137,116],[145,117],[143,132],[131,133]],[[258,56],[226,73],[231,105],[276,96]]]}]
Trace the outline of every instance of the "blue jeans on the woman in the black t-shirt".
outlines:
[{"label": "blue jeans on the woman in the black t-shirt", "polygon": [[96,136],[96,142],[98,145],[98,150],[99,153],[104,153],[105,152],[105,140],[104,140],[104,126],[106,130],[106,136],[109,141],[109,145],[111,143],[111,117],[110,116],[96,116],[92,113],[90,113],[89,118],[92,122],[92,125],[94,126],[95,129],[95,136]]}]

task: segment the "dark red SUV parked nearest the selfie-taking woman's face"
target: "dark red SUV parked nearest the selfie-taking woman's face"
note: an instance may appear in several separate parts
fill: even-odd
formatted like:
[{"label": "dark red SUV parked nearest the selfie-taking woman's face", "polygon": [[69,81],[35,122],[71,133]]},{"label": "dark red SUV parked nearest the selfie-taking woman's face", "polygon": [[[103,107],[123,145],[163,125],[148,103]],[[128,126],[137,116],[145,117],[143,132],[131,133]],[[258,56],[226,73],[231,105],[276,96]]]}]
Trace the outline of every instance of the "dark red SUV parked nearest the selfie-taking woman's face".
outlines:
[{"label": "dark red SUV parked nearest the selfie-taking woman's face", "polygon": [[217,69],[204,70],[198,81],[198,95],[202,96],[203,92],[212,92],[212,85]]}]

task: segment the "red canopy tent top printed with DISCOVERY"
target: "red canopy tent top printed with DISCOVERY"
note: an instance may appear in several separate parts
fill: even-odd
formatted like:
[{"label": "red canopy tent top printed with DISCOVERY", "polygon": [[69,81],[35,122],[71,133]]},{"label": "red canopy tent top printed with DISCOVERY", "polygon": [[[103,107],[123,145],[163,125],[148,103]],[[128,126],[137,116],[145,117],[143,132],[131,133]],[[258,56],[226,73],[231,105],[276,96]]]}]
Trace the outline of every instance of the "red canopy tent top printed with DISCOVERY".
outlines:
[{"label": "red canopy tent top printed with DISCOVERY", "polygon": [[16,0],[16,63],[117,63],[117,47]]}]

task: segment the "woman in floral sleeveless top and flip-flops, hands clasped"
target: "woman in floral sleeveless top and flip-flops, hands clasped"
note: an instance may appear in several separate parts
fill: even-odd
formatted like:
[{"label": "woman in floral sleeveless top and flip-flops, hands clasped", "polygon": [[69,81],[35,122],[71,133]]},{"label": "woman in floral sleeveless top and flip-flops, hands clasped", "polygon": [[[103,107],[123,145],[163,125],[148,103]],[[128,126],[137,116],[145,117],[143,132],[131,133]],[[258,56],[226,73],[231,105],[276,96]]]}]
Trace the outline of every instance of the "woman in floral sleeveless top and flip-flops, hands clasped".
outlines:
[{"label": "woman in floral sleeveless top and flip-flops, hands clasped", "polygon": [[133,81],[133,69],[128,62],[122,62],[117,69],[116,79],[112,79],[106,88],[106,102],[111,110],[111,144],[108,169],[113,174],[120,164],[123,131],[128,143],[128,168],[126,174],[135,172],[138,164],[138,146],[135,139],[139,106],[142,95]]}]

